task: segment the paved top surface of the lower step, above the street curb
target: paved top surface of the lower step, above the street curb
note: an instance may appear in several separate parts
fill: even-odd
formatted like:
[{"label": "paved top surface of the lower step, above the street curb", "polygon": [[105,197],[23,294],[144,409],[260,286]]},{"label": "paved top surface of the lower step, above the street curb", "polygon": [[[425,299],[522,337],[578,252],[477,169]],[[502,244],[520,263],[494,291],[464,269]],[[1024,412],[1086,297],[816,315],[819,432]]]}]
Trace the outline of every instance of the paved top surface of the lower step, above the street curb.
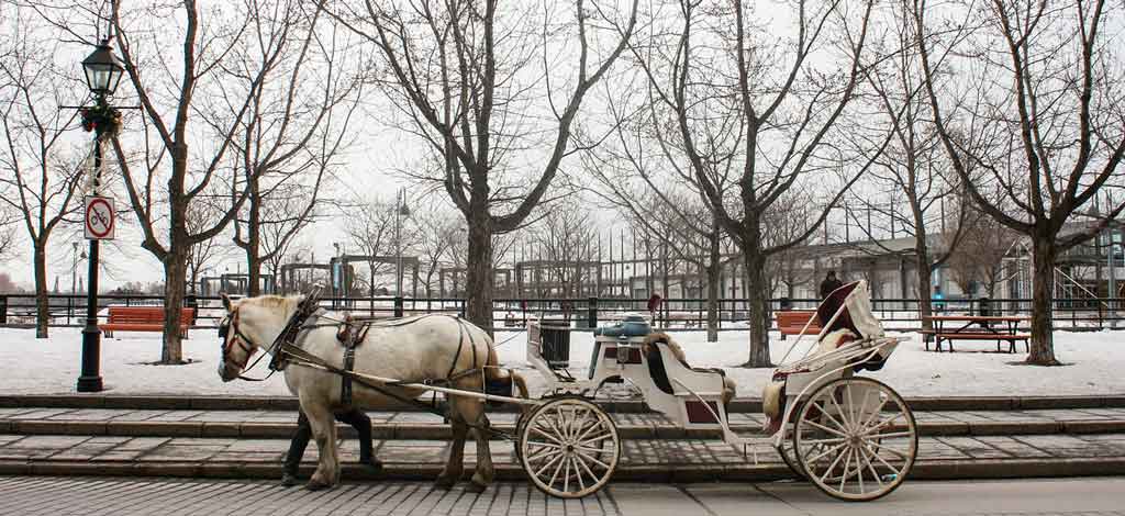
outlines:
[{"label": "paved top surface of the lower step, above the street curb", "polygon": [[[341,440],[341,460],[354,462],[356,440]],[[106,462],[215,462],[280,464],[289,441],[285,438],[128,437],[84,435],[0,435],[0,460],[106,461]],[[388,465],[441,464],[449,443],[436,440],[385,440],[376,442],[376,454]],[[493,443],[497,464],[513,463],[512,445]],[[316,459],[309,446],[305,462]],[[476,447],[467,443],[466,463]],[[973,459],[1080,459],[1125,458],[1125,434],[938,436],[919,440],[918,460]],[[737,465],[746,464],[740,450],[717,440],[634,440],[622,442],[622,465]],[[758,460],[776,463],[773,449],[758,446]],[[753,459],[750,459],[753,461]]]}]

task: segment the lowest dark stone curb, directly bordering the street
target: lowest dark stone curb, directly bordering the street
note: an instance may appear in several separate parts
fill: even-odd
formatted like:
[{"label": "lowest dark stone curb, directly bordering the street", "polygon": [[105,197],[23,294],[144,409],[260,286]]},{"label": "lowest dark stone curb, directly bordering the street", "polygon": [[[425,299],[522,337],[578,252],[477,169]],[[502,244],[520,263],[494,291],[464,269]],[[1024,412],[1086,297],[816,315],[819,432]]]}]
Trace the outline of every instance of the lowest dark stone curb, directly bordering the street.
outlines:
[{"label": "lowest dark stone curb, directly bordering the street", "polygon": [[[496,479],[525,480],[523,470],[515,464],[496,464]],[[300,476],[307,478],[313,465],[303,465]],[[389,463],[378,474],[357,464],[343,464],[346,481],[371,480],[433,480],[441,472],[441,464]],[[467,468],[465,479],[471,476]],[[58,460],[0,460],[0,474],[66,476],[66,477],[177,477],[214,479],[276,480],[281,477],[280,464],[258,462],[133,462],[133,461],[58,461]],[[1125,474],[1125,458],[1082,459],[981,459],[934,460],[915,464],[909,480],[1001,479],[1038,477],[1097,477]],[[784,464],[637,464],[623,465],[613,476],[614,481],[634,482],[760,482],[794,479]],[[812,489],[810,487],[810,489]]]}]

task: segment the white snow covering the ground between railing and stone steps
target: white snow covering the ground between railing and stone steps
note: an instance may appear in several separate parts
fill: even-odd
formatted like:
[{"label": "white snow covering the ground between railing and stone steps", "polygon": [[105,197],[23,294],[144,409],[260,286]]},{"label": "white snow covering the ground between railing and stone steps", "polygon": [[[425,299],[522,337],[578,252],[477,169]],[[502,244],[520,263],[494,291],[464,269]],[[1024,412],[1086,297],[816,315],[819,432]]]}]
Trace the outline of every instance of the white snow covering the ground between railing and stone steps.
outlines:
[{"label": "white snow covering the ground between railing and stone steps", "polygon": [[[720,342],[708,343],[704,332],[672,332],[684,347],[687,361],[698,366],[721,366],[738,382],[739,397],[757,398],[771,369],[742,369],[746,360],[746,332],[722,332]],[[1070,365],[1036,368],[1014,365],[1023,353],[997,354],[994,342],[957,342],[957,353],[922,351],[917,334],[897,334],[910,338],[899,345],[882,371],[864,372],[906,396],[1036,396],[1036,395],[1119,395],[1125,393],[1125,333],[1113,331],[1055,333],[1055,352]],[[501,362],[512,368],[525,365],[525,334],[500,332],[497,352]],[[782,357],[792,342],[773,334],[774,361]],[[79,328],[51,328],[51,338],[36,340],[34,329],[0,328],[0,393],[73,393],[82,348]],[[1007,347],[1007,344],[1005,344]],[[570,336],[570,368],[585,375],[593,348],[590,333]],[[981,353],[973,351],[988,351]],[[160,360],[160,335],[119,332],[115,338],[102,337],[101,374],[108,393],[114,395],[288,395],[280,374],[264,382],[223,383],[216,373],[219,341],[214,331],[192,331],[183,343],[188,365],[147,365]],[[251,372],[264,374],[266,361]],[[542,380],[532,370],[523,371],[536,392]]]}]

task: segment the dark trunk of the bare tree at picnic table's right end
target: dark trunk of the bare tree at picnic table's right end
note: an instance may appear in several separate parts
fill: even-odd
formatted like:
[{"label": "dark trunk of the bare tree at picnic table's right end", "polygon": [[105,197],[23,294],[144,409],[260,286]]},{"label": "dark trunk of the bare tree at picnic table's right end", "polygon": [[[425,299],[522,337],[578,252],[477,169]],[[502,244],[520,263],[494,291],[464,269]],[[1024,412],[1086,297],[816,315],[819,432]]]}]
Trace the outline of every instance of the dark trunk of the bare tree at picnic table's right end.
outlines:
[{"label": "dark trunk of the bare tree at picnic table's right end", "polygon": [[1055,235],[1037,232],[1032,246],[1032,352],[1027,363],[1059,365],[1054,355],[1054,325],[1051,322],[1054,263],[1059,250]]}]

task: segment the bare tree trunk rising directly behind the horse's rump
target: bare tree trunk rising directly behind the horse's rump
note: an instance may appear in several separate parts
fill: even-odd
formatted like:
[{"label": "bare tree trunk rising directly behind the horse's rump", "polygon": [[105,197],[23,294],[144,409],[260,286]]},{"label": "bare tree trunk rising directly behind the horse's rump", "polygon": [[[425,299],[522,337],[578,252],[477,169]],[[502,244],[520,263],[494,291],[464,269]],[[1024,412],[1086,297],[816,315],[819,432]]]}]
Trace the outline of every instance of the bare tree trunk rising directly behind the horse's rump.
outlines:
[{"label": "bare tree trunk rising directly behind the horse's rump", "polygon": [[469,255],[465,268],[465,315],[469,322],[480,326],[488,332],[488,335],[492,335],[492,216],[486,206],[474,206],[472,208],[468,220]]}]

